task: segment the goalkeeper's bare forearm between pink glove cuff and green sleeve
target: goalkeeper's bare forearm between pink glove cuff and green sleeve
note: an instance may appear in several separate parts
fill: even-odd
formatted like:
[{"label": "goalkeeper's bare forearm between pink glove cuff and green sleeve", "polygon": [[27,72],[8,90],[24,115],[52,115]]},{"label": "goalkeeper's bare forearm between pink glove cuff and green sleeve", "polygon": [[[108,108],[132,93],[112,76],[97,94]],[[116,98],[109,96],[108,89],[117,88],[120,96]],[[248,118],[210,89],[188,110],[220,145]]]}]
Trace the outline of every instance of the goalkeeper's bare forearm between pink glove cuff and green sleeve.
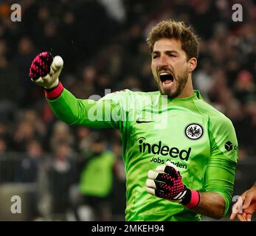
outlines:
[{"label": "goalkeeper's bare forearm between pink glove cuff and green sleeve", "polygon": [[200,202],[193,212],[220,219],[224,216],[225,200],[218,192],[200,192]]}]

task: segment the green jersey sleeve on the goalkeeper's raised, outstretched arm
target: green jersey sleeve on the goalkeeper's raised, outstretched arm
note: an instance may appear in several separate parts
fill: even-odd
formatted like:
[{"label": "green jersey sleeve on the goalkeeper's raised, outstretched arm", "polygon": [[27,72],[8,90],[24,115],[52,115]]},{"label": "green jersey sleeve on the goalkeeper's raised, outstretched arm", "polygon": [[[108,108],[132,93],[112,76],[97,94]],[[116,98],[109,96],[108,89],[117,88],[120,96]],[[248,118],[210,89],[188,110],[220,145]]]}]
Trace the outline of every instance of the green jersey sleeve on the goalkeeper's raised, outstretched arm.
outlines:
[{"label": "green jersey sleeve on the goalkeeper's raised, outstretched arm", "polygon": [[58,119],[72,125],[86,125],[91,128],[122,127],[122,108],[119,103],[111,100],[111,96],[98,101],[81,100],[63,89],[60,97],[48,100],[48,103]]}]

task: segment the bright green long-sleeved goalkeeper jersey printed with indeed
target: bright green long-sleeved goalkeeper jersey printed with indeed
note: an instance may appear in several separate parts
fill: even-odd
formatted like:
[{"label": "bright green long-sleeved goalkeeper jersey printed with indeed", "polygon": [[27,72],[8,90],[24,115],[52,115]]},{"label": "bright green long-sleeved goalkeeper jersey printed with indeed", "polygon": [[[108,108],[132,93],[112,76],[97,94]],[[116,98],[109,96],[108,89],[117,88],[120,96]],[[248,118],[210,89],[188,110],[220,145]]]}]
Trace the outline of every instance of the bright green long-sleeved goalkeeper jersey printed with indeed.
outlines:
[{"label": "bright green long-sleeved goalkeeper jersey printed with indeed", "polygon": [[188,188],[220,193],[226,214],[235,181],[238,141],[232,122],[198,91],[192,97],[170,99],[159,91],[125,90],[94,101],[77,99],[64,89],[49,105],[69,124],[120,130],[126,221],[200,221],[196,212],[146,191],[148,170],[168,160],[179,167]]}]

